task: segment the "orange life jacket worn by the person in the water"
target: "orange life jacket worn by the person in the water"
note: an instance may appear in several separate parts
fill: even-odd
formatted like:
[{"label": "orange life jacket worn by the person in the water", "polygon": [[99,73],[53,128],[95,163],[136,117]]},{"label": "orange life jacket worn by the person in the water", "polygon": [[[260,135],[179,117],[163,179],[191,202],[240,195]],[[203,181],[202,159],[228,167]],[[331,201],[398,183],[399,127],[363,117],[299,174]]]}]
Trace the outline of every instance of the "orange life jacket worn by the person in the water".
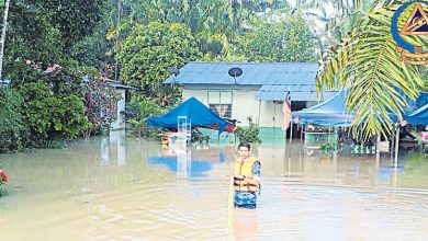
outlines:
[{"label": "orange life jacket worn by the person in the water", "polygon": [[[245,176],[247,179],[252,179],[252,165],[258,162],[258,160],[250,158],[246,161],[241,161],[240,158],[235,161],[235,173],[241,176]],[[251,184],[249,182],[246,182],[244,179],[239,179],[234,176],[234,186],[235,191],[246,191],[246,192],[252,192],[256,193],[260,190],[260,184]]]}]

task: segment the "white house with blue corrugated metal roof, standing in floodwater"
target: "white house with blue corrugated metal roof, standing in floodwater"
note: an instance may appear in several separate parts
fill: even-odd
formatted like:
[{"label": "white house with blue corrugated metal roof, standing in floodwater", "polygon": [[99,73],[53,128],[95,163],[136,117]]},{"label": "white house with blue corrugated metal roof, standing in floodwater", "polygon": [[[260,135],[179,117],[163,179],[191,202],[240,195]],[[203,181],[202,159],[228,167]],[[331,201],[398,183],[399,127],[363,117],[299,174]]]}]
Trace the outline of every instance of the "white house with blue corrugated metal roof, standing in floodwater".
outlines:
[{"label": "white house with blue corrugated metal roof, standing in floodwater", "polygon": [[[233,78],[229,69],[243,74]],[[316,62],[190,62],[164,81],[182,84],[183,100],[191,96],[210,106],[222,117],[248,126],[251,117],[259,127],[281,127],[282,103],[290,91],[292,111],[313,106],[316,95]],[[334,95],[325,92],[324,99]]]}]

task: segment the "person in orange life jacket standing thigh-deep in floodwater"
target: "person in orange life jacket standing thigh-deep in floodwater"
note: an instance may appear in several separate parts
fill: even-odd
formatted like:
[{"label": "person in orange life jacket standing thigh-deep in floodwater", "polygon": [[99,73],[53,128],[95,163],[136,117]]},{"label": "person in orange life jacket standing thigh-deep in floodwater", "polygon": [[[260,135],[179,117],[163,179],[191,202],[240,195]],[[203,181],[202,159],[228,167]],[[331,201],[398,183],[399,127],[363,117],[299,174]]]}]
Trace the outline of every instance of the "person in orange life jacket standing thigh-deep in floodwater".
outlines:
[{"label": "person in orange life jacket standing thigh-deep in floodwater", "polygon": [[254,209],[260,194],[260,161],[250,157],[250,145],[238,146],[239,158],[234,164],[234,206]]}]

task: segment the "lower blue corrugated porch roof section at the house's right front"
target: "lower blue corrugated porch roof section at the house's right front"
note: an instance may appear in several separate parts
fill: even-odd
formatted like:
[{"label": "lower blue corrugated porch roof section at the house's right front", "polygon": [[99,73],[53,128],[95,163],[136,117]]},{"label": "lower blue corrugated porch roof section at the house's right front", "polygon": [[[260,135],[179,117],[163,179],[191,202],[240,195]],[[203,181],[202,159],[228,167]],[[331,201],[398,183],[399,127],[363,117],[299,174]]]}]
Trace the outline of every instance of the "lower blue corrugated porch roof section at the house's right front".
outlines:
[{"label": "lower blue corrugated porch roof section at the house's right front", "polygon": [[[307,84],[264,84],[260,88],[256,99],[260,101],[283,101],[285,100],[286,93],[289,91],[292,101],[318,101],[315,85]],[[336,91],[325,91],[323,93],[323,99],[329,99],[336,93]]]}]

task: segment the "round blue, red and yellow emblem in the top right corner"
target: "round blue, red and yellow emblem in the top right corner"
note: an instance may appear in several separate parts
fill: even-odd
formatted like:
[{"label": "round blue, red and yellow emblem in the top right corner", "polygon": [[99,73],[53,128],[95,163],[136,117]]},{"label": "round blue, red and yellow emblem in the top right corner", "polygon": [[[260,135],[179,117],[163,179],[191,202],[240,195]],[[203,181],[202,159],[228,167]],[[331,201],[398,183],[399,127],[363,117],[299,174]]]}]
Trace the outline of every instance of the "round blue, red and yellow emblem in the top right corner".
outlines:
[{"label": "round blue, red and yellow emblem in the top right corner", "polygon": [[[428,4],[427,1],[409,1],[401,5],[394,13],[391,21],[391,33],[394,41],[397,43],[397,53],[401,55],[403,61],[412,65],[427,65],[428,49],[426,45],[417,46],[405,41],[403,36],[421,36],[428,35],[428,18],[423,8],[423,4]],[[414,10],[407,19],[403,28],[398,31],[398,20],[404,11],[410,5]]]}]

